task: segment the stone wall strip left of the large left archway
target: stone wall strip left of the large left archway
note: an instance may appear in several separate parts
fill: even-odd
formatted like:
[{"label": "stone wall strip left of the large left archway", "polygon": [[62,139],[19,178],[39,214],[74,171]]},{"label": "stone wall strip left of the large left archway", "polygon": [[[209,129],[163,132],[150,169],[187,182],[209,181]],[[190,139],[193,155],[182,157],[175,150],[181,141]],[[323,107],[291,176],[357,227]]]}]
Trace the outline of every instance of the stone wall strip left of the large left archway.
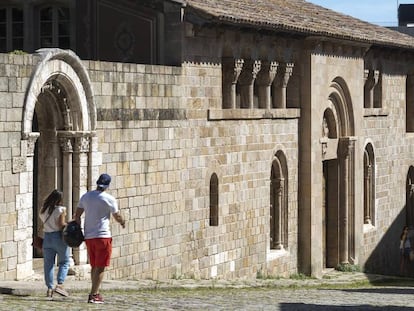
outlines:
[{"label": "stone wall strip left of the large left archway", "polygon": [[0,279],[31,273],[32,162],[21,157],[23,102],[35,60],[0,54]]}]

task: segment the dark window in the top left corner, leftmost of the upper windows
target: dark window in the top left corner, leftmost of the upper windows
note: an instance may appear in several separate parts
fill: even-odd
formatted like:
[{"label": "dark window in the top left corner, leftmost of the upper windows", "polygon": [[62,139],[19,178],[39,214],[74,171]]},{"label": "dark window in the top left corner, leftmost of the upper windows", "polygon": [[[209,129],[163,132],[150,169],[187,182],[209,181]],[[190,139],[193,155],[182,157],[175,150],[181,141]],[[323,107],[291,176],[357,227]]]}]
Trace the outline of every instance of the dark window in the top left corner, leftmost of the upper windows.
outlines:
[{"label": "dark window in the top left corner, leftmost of the upper windows", "polygon": [[0,52],[24,49],[23,10],[0,8]]}]

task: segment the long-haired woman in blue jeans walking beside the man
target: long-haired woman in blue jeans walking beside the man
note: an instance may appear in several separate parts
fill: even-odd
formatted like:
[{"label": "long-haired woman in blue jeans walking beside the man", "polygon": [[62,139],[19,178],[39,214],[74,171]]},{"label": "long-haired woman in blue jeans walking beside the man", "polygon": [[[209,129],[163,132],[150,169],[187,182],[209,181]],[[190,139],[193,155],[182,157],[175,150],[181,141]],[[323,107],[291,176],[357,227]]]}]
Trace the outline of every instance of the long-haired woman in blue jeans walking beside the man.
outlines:
[{"label": "long-haired woman in blue jeans walking beside the man", "polygon": [[[66,207],[62,206],[63,193],[53,190],[43,203],[40,210],[40,219],[43,222],[43,261],[44,275],[47,286],[47,297],[53,292],[62,296],[69,296],[63,288],[69,270],[69,247],[62,240],[62,229],[66,225]],[[59,258],[57,285],[53,289],[53,276],[56,255]]]}]

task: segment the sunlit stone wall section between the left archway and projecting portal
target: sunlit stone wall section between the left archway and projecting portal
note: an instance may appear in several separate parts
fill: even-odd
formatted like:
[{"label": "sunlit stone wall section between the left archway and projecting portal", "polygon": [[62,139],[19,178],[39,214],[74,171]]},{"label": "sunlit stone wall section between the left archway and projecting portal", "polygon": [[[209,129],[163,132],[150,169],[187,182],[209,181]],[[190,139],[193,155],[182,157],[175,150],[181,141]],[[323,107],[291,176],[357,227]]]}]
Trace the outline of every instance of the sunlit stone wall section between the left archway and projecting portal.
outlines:
[{"label": "sunlit stone wall section between the left archway and projecting portal", "polygon": [[[127,229],[113,226],[111,277],[237,277],[296,271],[297,119],[208,119],[221,107],[221,67],[87,62],[96,98],[101,171]],[[274,154],[289,163],[289,248],[269,258]],[[219,176],[219,226],[209,179]],[[272,263],[273,262],[273,263]]]}]

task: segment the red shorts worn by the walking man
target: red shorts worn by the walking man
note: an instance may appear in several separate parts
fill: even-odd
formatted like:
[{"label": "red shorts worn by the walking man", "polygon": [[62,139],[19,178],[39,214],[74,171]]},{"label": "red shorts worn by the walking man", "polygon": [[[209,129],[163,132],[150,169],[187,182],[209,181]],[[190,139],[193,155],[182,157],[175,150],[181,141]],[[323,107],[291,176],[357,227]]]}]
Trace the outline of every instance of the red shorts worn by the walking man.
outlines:
[{"label": "red shorts worn by the walking man", "polygon": [[92,267],[108,267],[112,255],[112,238],[87,239],[85,243],[89,264]]}]

